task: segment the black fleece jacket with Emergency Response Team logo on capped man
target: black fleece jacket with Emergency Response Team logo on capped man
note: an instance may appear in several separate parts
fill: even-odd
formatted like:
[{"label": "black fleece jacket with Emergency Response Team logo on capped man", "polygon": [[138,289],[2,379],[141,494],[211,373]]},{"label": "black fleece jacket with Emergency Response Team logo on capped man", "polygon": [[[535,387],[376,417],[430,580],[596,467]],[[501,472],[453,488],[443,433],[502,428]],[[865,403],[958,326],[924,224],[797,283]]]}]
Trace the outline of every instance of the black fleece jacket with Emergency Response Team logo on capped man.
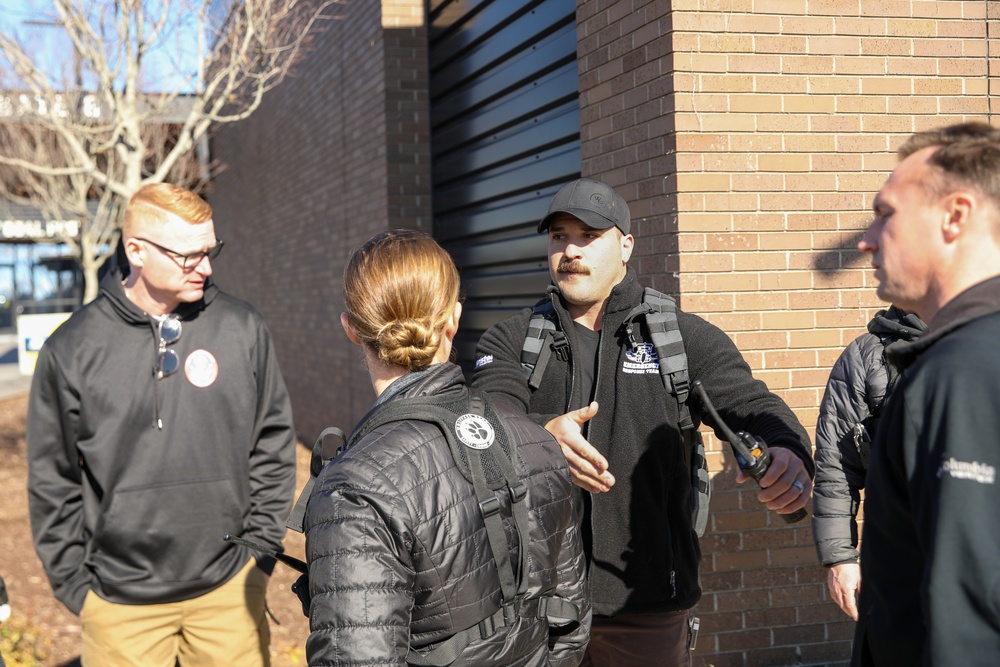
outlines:
[{"label": "black fleece jacket with Emergency Response Team logo on capped man", "polygon": [[[627,355],[626,316],[642,302],[642,286],[629,269],[608,299],[599,347],[597,415],[586,437],[607,459],[617,482],[589,495],[591,594],[594,613],[689,609],[701,597],[701,549],[691,526],[690,452],[678,428],[676,400],[656,365],[634,372]],[[551,292],[559,328],[570,345],[569,361],[551,357],[536,391],[520,363],[531,309],[499,322],[480,339],[473,386],[526,410],[539,424],[581,406],[572,405],[577,340],[558,292]],[[772,447],[787,447],[812,474],[809,436],[785,403],[754,379],[733,342],[695,315],[677,312],[691,382],[701,380],[720,416],[734,430],[758,435]],[[639,329],[642,331],[639,331]],[[635,327],[650,341],[645,327]],[[641,344],[640,340],[640,344]],[[703,407],[688,400],[696,424]],[[710,424],[711,425],[711,424]],[[763,509],[761,511],[764,511]]]}]

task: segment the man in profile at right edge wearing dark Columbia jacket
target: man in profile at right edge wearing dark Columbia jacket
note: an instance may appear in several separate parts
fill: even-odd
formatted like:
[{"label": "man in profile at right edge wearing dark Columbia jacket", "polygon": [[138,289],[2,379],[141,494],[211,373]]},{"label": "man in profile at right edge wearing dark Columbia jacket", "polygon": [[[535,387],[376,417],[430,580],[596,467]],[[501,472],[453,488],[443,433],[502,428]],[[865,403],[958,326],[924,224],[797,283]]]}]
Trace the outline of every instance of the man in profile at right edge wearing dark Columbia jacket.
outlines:
[{"label": "man in profile at right edge wearing dark Columbia jacket", "polygon": [[1000,129],[913,135],[859,250],[877,295],[927,322],[868,468],[854,665],[1000,656]]}]

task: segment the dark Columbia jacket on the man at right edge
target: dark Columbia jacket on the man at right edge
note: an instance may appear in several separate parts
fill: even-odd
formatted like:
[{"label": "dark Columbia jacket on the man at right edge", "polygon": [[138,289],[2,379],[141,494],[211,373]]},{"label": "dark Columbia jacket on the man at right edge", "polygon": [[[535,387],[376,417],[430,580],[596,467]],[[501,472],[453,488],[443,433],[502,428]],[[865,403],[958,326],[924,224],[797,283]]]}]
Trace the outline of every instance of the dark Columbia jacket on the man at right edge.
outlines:
[{"label": "dark Columbia jacket on the man at right edge", "polygon": [[996,665],[1000,656],[1000,277],[888,351],[905,369],[865,497],[855,665]]}]

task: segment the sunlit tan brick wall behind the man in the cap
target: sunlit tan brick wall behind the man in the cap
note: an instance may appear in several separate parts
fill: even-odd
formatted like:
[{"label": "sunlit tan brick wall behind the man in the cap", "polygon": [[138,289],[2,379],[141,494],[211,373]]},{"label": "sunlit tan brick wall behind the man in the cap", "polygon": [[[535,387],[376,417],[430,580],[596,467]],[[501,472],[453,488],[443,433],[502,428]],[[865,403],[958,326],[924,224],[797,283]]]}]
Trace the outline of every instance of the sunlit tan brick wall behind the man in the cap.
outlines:
[{"label": "sunlit tan brick wall behind the man in the cap", "polygon": [[[881,306],[855,245],[895,148],[1000,113],[1000,2],[581,0],[577,19],[582,172],[630,202],[633,265],[729,333],[812,433]],[[853,623],[811,528],[759,509],[709,447],[696,664],[844,663]]]}]

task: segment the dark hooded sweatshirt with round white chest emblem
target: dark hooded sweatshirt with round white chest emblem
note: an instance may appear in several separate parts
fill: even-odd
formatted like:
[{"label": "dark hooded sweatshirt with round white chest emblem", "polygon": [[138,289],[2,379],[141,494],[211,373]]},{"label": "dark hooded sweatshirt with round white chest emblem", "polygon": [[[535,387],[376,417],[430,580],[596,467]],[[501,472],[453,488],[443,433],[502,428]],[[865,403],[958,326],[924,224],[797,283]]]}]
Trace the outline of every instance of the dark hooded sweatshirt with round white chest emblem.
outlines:
[{"label": "dark hooded sweatshirt with round white chest emblem", "polygon": [[[28,408],[35,548],[56,597],[176,602],[281,548],[295,492],[292,411],[270,334],[214,285],[182,304],[181,368],[157,380],[156,320],[117,271],[38,355]],[[162,424],[162,427],[160,425]]]}]

